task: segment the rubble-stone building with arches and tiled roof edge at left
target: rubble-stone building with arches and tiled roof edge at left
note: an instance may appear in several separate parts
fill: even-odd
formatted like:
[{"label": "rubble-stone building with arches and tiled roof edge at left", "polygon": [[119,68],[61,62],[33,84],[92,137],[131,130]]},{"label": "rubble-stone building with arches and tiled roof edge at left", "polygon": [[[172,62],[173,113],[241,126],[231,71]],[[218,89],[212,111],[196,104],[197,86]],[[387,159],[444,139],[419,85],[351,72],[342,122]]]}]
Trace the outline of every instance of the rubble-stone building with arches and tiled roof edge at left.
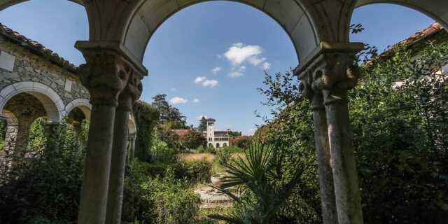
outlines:
[{"label": "rubble-stone building with arches and tiled roof edge at left", "polygon": [[[37,118],[45,117],[48,126],[66,116],[90,118],[90,94],[75,71],[51,50],[0,24],[0,118],[7,123],[6,152],[25,155],[29,127]],[[137,132],[133,120],[131,124],[130,148]]]}]

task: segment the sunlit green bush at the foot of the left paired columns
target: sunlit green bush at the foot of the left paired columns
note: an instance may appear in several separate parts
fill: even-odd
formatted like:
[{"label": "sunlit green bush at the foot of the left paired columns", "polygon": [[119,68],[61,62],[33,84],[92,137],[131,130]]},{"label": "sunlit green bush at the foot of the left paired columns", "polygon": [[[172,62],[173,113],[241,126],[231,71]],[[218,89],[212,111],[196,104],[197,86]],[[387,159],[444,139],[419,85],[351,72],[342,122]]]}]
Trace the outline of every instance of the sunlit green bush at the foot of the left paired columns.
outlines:
[{"label": "sunlit green bush at the foot of the left paired columns", "polygon": [[[123,221],[139,223],[191,223],[199,211],[200,198],[186,180],[151,178],[140,167],[130,167],[125,177]],[[172,170],[172,169],[171,169]]]}]

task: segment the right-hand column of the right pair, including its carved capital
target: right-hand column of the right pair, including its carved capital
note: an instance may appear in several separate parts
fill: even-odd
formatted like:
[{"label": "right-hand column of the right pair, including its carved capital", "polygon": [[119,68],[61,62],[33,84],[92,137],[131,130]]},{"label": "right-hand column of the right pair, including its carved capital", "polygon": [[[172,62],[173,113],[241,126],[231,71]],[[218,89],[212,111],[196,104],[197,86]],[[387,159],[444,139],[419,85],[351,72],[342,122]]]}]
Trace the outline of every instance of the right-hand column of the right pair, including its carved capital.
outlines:
[{"label": "right-hand column of the right pair, including its carved capital", "polygon": [[[325,105],[326,125],[328,126],[328,143],[330,148],[330,167],[335,190],[335,205],[337,223],[361,224],[363,213],[360,203],[360,190],[358,187],[358,172],[353,153],[352,133],[349,123],[349,109],[347,92],[353,88],[357,81],[354,64],[356,52],[363,49],[362,43],[321,43],[311,62],[304,64],[297,71],[301,80],[311,90],[321,91]],[[307,75],[309,73],[309,75]],[[306,88],[305,88],[306,90]],[[307,93],[307,91],[305,91]],[[320,99],[319,99],[320,101]],[[316,114],[316,111],[314,112]],[[318,115],[322,118],[324,115]],[[315,120],[315,124],[320,119]],[[322,121],[322,120],[320,120]],[[320,131],[324,127],[321,122]],[[316,127],[315,127],[316,128]],[[315,130],[316,131],[316,130]],[[316,146],[325,140],[323,132],[316,133]],[[323,146],[323,145],[322,145]],[[325,147],[321,147],[325,148]],[[325,153],[325,151],[324,151]],[[319,156],[319,159],[323,157]],[[322,161],[328,162],[328,161]],[[321,162],[319,162],[321,163]],[[319,176],[323,179],[322,166],[319,165]],[[329,180],[329,179],[327,179]],[[322,187],[322,180],[321,180]],[[323,190],[323,189],[321,189]],[[322,195],[325,193],[321,192]],[[330,195],[330,194],[329,194]],[[323,206],[325,206],[323,201]],[[331,207],[328,204],[328,207]],[[324,211],[325,209],[323,209]],[[330,209],[334,211],[334,209]],[[331,211],[325,211],[328,216]],[[333,222],[335,223],[335,222]]]}]

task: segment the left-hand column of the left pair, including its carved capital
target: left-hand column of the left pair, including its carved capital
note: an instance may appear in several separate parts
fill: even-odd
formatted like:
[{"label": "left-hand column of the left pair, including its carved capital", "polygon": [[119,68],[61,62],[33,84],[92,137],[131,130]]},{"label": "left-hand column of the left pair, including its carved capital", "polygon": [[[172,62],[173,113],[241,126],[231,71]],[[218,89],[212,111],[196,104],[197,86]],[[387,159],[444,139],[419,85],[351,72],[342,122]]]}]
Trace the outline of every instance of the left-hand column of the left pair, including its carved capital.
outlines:
[{"label": "left-hand column of the left pair, including its carved capital", "polygon": [[79,73],[92,104],[78,224],[104,224],[118,95],[131,69],[127,60],[115,51],[78,49],[87,62],[80,66]]}]

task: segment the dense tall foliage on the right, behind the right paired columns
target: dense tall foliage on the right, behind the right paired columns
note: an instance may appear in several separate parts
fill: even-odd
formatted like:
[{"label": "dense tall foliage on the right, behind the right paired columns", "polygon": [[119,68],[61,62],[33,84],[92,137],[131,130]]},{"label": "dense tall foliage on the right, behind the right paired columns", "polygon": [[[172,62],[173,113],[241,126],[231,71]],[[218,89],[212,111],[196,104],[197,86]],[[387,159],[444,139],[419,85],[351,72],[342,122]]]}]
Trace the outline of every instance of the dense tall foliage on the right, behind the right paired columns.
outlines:
[{"label": "dense tall foliage on the right, behind the right paired columns", "polygon": [[[360,69],[349,93],[365,223],[431,223],[448,211],[448,45],[419,52],[395,47]],[[267,104],[277,106],[262,137],[294,144],[278,154],[281,170],[308,160],[302,181],[278,213],[288,223],[320,223],[320,202],[309,103],[291,73],[267,75]],[[287,176],[287,175],[286,175]]]}]

